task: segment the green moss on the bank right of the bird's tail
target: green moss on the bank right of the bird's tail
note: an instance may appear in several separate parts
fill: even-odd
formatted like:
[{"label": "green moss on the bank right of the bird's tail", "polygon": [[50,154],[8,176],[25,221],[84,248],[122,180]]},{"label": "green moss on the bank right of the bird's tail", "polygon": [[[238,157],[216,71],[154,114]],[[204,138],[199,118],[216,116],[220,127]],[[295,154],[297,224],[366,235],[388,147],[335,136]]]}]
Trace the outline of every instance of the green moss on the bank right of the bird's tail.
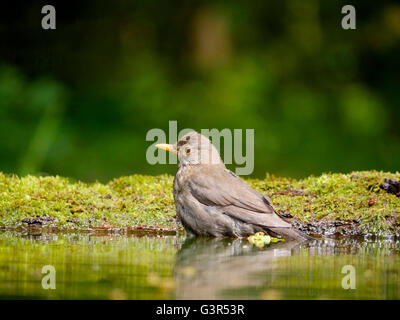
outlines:
[{"label": "green moss on the bank right of the bird's tail", "polygon": [[398,233],[400,197],[379,188],[385,178],[400,174],[378,171],[323,174],[303,180],[266,177],[252,180],[258,191],[271,196],[276,210],[302,222],[356,222],[363,233]]}]

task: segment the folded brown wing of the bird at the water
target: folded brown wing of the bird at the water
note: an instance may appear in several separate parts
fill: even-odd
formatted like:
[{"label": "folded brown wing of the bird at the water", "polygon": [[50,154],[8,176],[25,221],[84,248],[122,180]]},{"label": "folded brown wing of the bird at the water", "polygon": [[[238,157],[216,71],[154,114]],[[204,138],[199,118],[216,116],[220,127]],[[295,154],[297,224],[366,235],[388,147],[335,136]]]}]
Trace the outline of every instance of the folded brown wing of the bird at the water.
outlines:
[{"label": "folded brown wing of the bird at the water", "polygon": [[291,227],[275,213],[266,196],[225,168],[197,170],[188,179],[188,186],[200,203],[218,207],[232,218],[265,227]]}]

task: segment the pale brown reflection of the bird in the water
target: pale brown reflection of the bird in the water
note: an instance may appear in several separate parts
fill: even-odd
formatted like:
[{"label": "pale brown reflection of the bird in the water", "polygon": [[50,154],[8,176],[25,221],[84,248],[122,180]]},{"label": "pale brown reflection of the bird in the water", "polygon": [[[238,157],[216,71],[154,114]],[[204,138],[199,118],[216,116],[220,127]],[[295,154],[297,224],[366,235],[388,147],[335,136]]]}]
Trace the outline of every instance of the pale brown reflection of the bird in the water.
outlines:
[{"label": "pale brown reflection of the bird in the water", "polygon": [[285,241],[260,250],[246,239],[189,238],[176,257],[176,298],[223,299],[226,292],[255,287],[277,258],[290,256],[299,246]]}]

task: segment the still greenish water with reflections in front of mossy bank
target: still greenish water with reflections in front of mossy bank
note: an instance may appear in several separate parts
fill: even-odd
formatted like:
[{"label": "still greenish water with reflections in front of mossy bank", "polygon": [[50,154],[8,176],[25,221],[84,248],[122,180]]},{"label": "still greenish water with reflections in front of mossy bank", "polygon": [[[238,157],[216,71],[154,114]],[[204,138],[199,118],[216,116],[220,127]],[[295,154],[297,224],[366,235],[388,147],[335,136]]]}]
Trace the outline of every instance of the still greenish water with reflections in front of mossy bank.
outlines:
[{"label": "still greenish water with reflections in front of mossy bank", "polygon": [[[42,287],[47,265],[54,290]],[[355,289],[343,289],[351,280]],[[259,249],[232,239],[0,232],[0,299],[9,298],[399,299],[400,242]]]}]

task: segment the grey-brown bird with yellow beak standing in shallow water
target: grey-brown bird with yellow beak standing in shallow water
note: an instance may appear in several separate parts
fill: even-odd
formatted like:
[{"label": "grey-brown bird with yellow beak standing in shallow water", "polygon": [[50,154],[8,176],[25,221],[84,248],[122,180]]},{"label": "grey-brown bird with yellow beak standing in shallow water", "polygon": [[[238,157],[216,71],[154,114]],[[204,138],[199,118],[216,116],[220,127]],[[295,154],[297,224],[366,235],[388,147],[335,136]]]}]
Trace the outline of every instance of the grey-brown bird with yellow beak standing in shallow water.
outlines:
[{"label": "grey-brown bird with yellow beak standing in shallow water", "polygon": [[156,147],[178,156],[173,195],[176,216],[189,237],[244,238],[264,232],[288,240],[309,238],[274,210],[267,195],[228,170],[204,135],[191,131],[175,144]]}]

